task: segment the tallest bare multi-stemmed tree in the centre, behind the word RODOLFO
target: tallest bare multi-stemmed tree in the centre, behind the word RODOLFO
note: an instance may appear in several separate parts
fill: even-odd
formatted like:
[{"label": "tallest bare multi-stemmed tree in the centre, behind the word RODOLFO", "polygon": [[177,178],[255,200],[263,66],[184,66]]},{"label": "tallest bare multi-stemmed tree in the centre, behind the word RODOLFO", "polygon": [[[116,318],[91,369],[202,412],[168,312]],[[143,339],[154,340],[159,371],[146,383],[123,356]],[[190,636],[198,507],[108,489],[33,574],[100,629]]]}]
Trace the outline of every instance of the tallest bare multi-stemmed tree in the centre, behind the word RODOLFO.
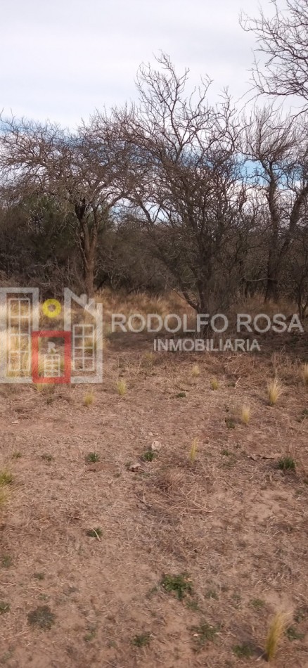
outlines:
[{"label": "tallest bare multi-stemmed tree in the centre, behind the word RODOLFO", "polygon": [[140,105],[126,124],[139,172],[129,193],[131,219],[146,227],[187,302],[210,312],[214,295],[221,304],[230,293],[245,217],[238,126],[227,94],[212,107],[207,79],[189,95],[188,70],[177,75],[165,54],[158,63],[158,70],[141,67]]}]

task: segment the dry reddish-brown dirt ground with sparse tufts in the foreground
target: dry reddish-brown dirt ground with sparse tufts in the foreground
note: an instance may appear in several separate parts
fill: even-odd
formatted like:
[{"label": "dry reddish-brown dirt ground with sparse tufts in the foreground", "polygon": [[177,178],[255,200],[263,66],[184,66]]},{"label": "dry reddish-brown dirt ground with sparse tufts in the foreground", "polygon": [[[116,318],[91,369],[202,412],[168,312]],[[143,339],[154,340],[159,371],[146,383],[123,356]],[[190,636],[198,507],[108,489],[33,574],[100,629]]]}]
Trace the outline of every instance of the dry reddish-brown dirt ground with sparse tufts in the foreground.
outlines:
[{"label": "dry reddish-brown dirt ground with sparse tufts in the foreground", "polygon": [[260,666],[281,610],[272,664],[307,667],[307,337],[274,355],[152,348],[110,336],[89,406],[82,385],[0,389],[0,665]]}]

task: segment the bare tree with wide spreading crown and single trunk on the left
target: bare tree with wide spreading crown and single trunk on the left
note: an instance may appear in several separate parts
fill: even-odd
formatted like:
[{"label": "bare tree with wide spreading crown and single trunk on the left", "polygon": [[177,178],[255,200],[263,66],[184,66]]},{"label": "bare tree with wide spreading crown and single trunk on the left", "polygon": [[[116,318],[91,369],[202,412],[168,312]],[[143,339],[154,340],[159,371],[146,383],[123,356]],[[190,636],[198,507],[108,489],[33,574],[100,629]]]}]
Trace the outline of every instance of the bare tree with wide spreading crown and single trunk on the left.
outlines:
[{"label": "bare tree with wide spreading crown and single trunk on the left", "polygon": [[123,195],[127,150],[115,125],[101,115],[99,136],[91,124],[74,134],[57,125],[15,118],[0,136],[2,186],[16,198],[46,194],[67,205],[82,257],[84,287],[94,291],[98,234]]}]

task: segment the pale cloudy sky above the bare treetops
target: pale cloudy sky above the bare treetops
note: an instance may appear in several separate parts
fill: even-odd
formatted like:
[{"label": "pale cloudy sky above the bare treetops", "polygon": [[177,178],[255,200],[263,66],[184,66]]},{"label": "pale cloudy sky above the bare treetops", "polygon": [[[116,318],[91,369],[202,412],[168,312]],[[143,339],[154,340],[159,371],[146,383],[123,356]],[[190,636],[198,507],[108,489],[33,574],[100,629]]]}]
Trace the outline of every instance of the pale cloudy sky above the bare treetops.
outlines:
[{"label": "pale cloudy sky above the bare treetops", "polygon": [[[1,3],[0,110],[74,129],[95,109],[136,101],[136,71],[160,50],[213,79],[209,98],[250,88],[255,38],[240,11],[258,0],[10,0]],[[264,7],[269,0],[262,0]],[[248,96],[249,97],[249,96]],[[243,103],[243,102],[241,102]],[[241,104],[240,103],[240,104]]]}]

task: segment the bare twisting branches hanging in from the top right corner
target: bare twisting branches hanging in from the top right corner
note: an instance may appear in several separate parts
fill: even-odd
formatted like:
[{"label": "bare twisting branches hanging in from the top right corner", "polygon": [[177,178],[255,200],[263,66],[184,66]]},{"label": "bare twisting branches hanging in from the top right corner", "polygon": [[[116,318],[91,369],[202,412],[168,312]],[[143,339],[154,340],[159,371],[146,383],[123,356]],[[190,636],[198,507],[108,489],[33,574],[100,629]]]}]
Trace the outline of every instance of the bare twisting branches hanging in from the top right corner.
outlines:
[{"label": "bare twisting branches hanging in from the top right corner", "polygon": [[[252,80],[257,90],[270,96],[299,96],[308,110],[308,1],[287,0],[285,9],[271,0],[274,15],[268,18],[242,15],[244,30],[257,36],[264,63],[255,58]],[[263,59],[264,60],[264,59]]]}]

